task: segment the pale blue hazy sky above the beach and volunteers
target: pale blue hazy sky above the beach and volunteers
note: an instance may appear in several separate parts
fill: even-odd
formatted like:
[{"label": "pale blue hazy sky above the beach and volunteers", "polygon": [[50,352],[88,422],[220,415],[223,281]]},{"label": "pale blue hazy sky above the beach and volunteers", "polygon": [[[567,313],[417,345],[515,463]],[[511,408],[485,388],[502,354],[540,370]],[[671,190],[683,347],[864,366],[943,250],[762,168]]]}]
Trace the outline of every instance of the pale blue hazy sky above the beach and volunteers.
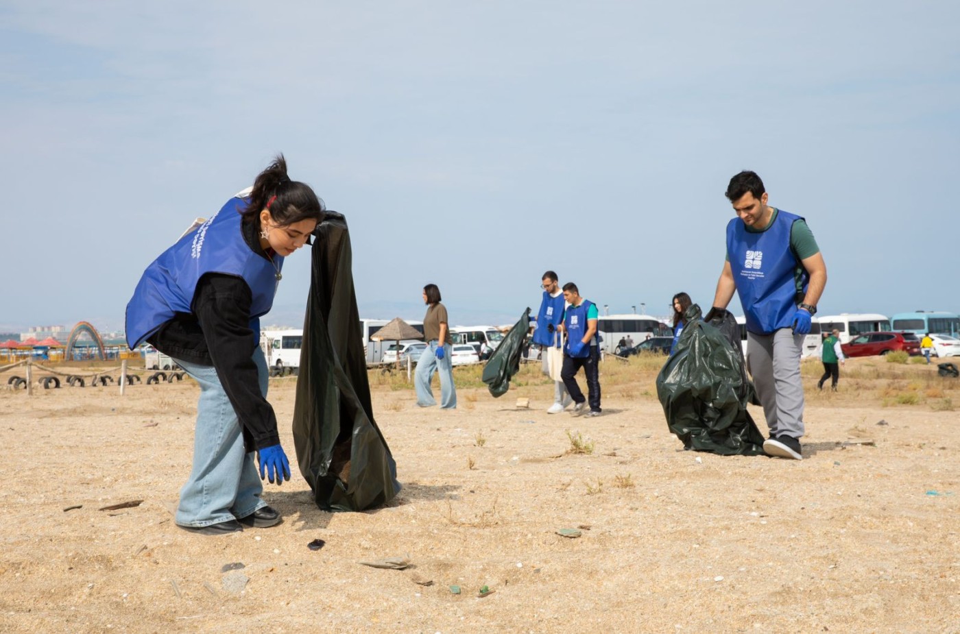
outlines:
[{"label": "pale blue hazy sky above the beach and volunteers", "polygon": [[[0,330],[120,329],[142,270],[278,152],[347,215],[364,317],[512,323],[557,270],[707,307],[753,169],[823,314],[960,312],[960,5],[0,5]],[[952,237],[950,237],[952,236]],[[273,317],[299,325],[309,255]],[[739,312],[734,298],[732,309]]]}]

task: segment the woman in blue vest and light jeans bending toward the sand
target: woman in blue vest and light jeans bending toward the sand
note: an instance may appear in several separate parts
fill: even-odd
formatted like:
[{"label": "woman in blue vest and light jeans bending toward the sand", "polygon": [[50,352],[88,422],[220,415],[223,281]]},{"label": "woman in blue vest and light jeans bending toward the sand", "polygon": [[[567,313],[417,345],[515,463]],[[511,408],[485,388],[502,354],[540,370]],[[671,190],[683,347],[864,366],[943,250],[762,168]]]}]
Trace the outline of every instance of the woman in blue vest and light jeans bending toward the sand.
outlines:
[{"label": "woman in blue vest and light jeans bending toward the sand", "polygon": [[[280,515],[263,480],[290,480],[267,402],[260,317],[270,311],[283,259],[308,242],[324,202],[287,176],[282,155],[147,267],[127,305],[127,341],[149,341],[200,385],[193,469],[175,521],[206,535],[266,528]],[[259,475],[254,462],[259,460]]]}]

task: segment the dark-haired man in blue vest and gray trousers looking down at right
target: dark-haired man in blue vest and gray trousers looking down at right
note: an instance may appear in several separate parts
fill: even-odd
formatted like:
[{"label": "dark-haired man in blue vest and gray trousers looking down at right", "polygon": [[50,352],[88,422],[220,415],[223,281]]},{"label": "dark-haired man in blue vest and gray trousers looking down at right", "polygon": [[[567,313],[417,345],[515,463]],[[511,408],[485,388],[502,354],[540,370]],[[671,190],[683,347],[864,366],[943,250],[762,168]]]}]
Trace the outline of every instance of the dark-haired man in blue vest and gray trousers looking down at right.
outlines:
[{"label": "dark-haired man in blue vest and gray trousers looking down at right", "polygon": [[737,217],[727,224],[727,262],[706,319],[723,317],[733,292],[739,295],[747,322],[747,368],[770,428],[763,451],[799,460],[800,355],[827,286],[827,265],[804,218],[768,205],[754,172],[733,176],[727,198]]}]

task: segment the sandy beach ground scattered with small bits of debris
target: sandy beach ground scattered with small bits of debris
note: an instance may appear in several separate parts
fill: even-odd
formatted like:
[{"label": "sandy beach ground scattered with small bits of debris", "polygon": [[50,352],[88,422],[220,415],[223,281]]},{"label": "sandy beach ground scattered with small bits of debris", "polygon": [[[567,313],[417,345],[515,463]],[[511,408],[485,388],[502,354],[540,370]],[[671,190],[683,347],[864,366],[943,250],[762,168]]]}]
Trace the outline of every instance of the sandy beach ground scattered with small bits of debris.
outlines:
[{"label": "sandy beach ground scattered with small bits of debris", "polygon": [[[223,537],[170,511],[194,385],[0,391],[0,631],[960,632],[958,382],[861,367],[838,394],[805,371],[799,462],[681,451],[649,371],[611,380],[594,419],[546,414],[532,379],[461,388],[457,411],[376,387],[394,502],[325,513],[295,469],[264,495],[282,524]],[[294,380],[272,381],[281,421]],[[357,563],[397,555],[413,565]]]}]

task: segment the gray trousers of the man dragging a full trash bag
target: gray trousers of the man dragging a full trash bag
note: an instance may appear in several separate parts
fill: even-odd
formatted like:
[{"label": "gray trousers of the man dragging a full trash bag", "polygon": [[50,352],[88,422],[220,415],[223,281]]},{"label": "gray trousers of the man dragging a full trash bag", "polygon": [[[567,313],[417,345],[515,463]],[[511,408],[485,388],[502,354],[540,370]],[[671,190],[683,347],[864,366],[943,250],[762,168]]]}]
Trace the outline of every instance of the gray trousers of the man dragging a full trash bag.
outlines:
[{"label": "gray trousers of the man dragging a full trash bag", "polygon": [[794,335],[790,328],[771,335],[747,333],[747,370],[772,436],[804,435],[803,344],[804,335]]}]

